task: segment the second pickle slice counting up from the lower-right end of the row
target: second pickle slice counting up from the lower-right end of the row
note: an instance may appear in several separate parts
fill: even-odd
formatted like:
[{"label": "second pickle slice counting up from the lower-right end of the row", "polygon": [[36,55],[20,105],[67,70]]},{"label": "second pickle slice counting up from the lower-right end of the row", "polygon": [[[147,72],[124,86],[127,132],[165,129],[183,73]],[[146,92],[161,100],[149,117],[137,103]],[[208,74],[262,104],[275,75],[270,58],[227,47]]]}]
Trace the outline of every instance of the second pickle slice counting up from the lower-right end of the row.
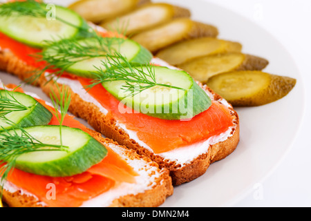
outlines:
[{"label": "second pickle slice counting up from the lower-right end of the row", "polygon": [[268,61],[261,57],[228,52],[193,59],[178,67],[187,71],[194,79],[206,83],[210,77],[232,70],[263,70],[267,63]]}]

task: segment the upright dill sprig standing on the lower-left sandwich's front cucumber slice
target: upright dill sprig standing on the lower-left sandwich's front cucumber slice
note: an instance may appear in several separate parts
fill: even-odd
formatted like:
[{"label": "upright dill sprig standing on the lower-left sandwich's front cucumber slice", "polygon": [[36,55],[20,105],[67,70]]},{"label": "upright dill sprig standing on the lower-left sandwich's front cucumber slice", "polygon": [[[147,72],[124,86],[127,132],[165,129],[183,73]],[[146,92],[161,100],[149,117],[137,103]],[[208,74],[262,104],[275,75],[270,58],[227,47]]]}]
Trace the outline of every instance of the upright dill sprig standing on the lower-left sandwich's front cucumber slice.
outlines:
[{"label": "upright dill sprig standing on the lower-left sandwich's front cucumber slice", "polygon": [[71,97],[70,93],[68,93],[68,88],[64,88],[63,86],[63,88],[61,89],[59,88],[58,84],[56,84],[56,86],[59,96],[57,96],[54,90],[51,90],[50,99],[52,100],[54,106],[53,113],[57,117],[57,120],[59,122],[59,137],[61,141],[61,146],[63,146],[62,125],[64,124],[64,119],[70,106]]}]

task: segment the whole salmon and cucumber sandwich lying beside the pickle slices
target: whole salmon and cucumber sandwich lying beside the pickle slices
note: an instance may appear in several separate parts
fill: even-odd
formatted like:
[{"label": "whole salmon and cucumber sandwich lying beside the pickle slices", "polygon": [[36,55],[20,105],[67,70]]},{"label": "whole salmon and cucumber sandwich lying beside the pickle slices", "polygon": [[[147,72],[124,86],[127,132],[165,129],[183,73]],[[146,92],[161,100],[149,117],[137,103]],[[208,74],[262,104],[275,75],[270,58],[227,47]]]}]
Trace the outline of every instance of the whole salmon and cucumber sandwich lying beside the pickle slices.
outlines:
[{"label": "whole salmon and cucumber sandwich lying beside the pickle slices", "polygon": [[55,23],[48,23],[42,3],[26,3],[37,6],[36,16],[19,10],[21,2],[0,6],[1,70],[46,94],[66,88],[73,115],[167,169],[173,185],[196,179],[235,150],[238,115],[206,85],[68,8],[57,6]]}]

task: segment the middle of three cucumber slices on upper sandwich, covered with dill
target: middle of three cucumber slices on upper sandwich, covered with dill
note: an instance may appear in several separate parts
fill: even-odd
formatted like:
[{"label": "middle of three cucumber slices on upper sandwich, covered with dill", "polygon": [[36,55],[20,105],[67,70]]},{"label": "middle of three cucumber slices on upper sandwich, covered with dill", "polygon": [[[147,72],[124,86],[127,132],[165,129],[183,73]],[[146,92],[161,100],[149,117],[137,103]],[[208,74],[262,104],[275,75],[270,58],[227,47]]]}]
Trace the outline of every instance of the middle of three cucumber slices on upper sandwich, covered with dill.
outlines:
[{"label": "middle of three cucumber slices on upper sandwich, covered with dill", "polygon": [[[102,62],[107,64],[108,57],[106,55],[108,53],[114,55],[115,52],[120,53],[133,65],[149,64],[153,57],[151,52],[137,42],[117,37],[81,39],[77,40],[74,45],[68,45],[67,41],[58,42],[47,47],[43,56],[50,64],[64,68],[69,73],[95,78],[97,76],[94,73],[97,72],[97,68],[105,70]],[[110,62],[113,63],[113,61]],[[109,64],[107,65],[109,66]]]}]

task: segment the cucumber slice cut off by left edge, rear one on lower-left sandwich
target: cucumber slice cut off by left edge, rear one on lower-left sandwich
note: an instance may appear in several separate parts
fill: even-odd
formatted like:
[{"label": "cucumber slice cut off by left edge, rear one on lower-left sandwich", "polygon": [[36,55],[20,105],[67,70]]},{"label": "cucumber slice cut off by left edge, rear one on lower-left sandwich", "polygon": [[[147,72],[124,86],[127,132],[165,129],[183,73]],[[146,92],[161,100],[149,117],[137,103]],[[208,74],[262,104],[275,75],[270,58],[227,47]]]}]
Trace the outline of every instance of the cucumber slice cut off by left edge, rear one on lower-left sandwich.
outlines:
[{"label": "cucumber slice cut off by left edge, rear one on lower-left sandwich", "polygon": [[[0,90],[0,115],[17,126],[48,124],[53,115],[37,100],[24,93]],[[12,128],[12,124],[0,118],[0,131]]]}]

